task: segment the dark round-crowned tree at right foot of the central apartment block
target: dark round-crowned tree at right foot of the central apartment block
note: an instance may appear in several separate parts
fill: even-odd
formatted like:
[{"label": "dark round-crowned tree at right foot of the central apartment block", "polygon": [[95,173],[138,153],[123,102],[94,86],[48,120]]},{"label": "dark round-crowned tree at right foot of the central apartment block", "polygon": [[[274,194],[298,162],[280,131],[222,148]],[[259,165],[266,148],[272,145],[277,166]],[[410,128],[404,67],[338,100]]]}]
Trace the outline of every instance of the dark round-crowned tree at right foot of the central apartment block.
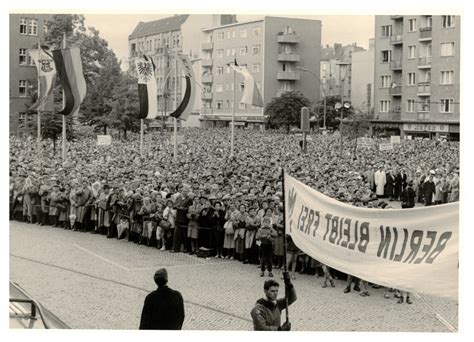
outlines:
[{"label": "dark round-crowned tree at right foot of the central apartment block", "polygon": [[311,102],[298,91],[283,93],[281,97],[275,97],[265,106],[265,115],[268,116],[267,124],[270,128],[285,127],[287,133],[291,126],[299,126],[301,123],[301,108],[308,107],[310,116],[314,115]]}]

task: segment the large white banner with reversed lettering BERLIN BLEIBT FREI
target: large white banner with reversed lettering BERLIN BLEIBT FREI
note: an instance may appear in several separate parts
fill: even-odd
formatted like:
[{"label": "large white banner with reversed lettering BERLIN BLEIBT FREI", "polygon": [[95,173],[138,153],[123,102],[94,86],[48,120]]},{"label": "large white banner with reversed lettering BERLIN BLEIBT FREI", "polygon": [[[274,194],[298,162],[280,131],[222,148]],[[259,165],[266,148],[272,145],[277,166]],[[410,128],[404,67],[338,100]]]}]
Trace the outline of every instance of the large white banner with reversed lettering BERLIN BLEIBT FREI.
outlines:
[{"label": "large white banner with reversed lettering BERLIN BLEIBT FREI", "polygon": [[457,299],[459,205],[368,209],[285,174],[286,231],[312,258],[399,290]]}]

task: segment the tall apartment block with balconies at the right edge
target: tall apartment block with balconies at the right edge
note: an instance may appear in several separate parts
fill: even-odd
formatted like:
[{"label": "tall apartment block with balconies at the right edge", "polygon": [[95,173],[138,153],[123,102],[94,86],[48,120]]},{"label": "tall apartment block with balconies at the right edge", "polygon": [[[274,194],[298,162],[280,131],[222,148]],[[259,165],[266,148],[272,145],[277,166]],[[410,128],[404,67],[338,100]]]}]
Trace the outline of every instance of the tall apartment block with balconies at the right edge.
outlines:
[{"label": "tall apartment block with balconies at the right edge", "polygon": [[375,17],[375,132],[459,139],[460,17]]}]

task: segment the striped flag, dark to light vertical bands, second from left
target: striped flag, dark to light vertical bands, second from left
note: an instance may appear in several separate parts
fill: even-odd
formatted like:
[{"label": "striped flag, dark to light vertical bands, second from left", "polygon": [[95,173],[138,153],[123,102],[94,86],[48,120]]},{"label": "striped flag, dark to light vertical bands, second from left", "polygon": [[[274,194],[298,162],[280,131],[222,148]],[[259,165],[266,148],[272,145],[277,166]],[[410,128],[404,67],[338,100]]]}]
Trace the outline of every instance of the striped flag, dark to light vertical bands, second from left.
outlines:
[{"label": "striped flag, dark to light vertical bands, second from left", "polygon": [[54,63],[64,90],[64,108],[59,114],[75,114],[86,96],[86,80],[82,72],[79,48],[53,50]]}]

